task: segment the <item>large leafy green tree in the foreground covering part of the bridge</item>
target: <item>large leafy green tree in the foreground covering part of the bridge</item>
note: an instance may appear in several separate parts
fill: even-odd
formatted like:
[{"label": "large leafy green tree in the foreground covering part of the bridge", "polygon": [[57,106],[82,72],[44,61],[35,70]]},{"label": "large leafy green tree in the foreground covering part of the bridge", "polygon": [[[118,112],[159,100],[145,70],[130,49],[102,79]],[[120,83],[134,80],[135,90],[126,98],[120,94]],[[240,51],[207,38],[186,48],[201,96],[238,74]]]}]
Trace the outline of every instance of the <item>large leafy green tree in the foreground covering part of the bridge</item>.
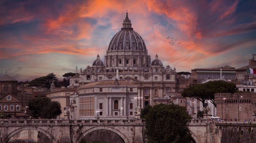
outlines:
[{"label": "large leafy green tree in the foreground covering part of the bridge", "polygon": [[[144,116],[147,143],[187,143],[191,140],[188,122],[192,117],[185,107],[177,104],[157,104],[148,107]],[[148,110],[148,108],[141,109]],[[147,111],[146,111],[147,112]]]}]

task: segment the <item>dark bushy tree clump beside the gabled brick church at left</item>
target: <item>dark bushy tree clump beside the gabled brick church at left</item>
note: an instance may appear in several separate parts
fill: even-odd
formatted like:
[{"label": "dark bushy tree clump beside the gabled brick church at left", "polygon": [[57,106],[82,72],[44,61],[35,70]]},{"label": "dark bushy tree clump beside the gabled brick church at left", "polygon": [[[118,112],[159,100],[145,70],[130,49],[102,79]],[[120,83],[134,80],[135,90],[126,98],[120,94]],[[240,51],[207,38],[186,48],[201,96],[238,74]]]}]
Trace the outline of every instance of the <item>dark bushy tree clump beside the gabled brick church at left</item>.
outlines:
[{"label": "dark bushy tree clump beside the gabled brick church at left", "polygon": [[28,103],[31,115],[33,118],[38,119],[56,119],[61,111],[61,105],[57,101],[51,101],[48,97],[37,97]]}]

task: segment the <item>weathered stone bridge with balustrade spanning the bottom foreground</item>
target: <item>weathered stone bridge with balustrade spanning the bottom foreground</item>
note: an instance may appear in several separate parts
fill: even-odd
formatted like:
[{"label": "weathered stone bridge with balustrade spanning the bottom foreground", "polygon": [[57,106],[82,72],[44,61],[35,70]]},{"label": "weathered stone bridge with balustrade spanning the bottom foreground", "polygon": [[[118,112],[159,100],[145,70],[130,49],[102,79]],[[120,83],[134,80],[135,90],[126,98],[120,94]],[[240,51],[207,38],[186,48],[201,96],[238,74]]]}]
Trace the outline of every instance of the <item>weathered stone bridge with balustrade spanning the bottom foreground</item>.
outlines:
[{"label": "weathered stone bridge with balustrade spanning the bottom foreground", "polygon": [[[7,143],[19,132],[34,130],[46,135],[52,143],[79,143],[83,137],[96,130],[108,130],[117,134],[125,143],[145,143],[145,126],[141,119],[128,120],[0,120],[1,143]],[[212,121],[192,119],[189,123],[193,143],[220,143],[227,141],[234,127],[240,131],[234,136],[241,139],[255,132],[256,122]],[[250,129],[249,129],[250,127]],[[248,133],[248,131],[250,132]],[[242,133],[242,134],[243,134]],[[254,133],[255,134],[255,133]],[[223,137],[224,135],[224,137]],[[255,137],[251,137],[253,140]],[[229,141],[229,140],[228,140]],[[253,140],[253,141],[256,141]]]}]

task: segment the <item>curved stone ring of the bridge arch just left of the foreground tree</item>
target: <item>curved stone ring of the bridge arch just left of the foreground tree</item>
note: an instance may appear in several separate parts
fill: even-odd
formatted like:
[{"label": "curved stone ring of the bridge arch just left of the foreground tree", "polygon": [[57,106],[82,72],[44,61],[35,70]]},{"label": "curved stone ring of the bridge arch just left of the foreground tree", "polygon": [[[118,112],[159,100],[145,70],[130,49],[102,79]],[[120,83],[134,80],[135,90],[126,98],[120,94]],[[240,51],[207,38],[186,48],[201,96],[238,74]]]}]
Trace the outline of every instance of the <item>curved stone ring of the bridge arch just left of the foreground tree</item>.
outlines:
[{"label": "curved stone ring of the bridge arch just left of the foreground tree", "polygon": [[112,131],[112,132],[116,133],[117,135],[119,135],[123,139],[123,141],[125,143],[130,143],[128,138],[122,132],[120,132],[119,130],[117,130],[117,129],[113,128],[113,127],[110,127],[110,126],[95,126],[95,127],[92,127],[90,129],[86,130],[83,134],[81,134],[77,138],[75,143],[79,143],[85,135],[87,135],[87,134],[89,134],[89,133],[91,133],[93,131],[96,131],[96,130],[109,130],[109,131]]}]

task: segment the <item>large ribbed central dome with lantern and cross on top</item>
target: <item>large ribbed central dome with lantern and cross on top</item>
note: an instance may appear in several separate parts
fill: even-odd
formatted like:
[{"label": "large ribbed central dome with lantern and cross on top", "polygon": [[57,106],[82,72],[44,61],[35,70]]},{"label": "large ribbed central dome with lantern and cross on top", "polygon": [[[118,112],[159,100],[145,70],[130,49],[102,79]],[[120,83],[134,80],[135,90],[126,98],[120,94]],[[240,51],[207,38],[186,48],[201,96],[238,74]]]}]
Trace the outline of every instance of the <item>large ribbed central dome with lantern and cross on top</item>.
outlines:
[{"label": "large ribbed central dome with lantern and cross on top", "polygon": [[129,20],[127,12],[126,18],[123,20],[123,28],[113,36],[108,46],[108,51],[115,50],[147,51],[144,40],[133,30],[131,20]]}]

